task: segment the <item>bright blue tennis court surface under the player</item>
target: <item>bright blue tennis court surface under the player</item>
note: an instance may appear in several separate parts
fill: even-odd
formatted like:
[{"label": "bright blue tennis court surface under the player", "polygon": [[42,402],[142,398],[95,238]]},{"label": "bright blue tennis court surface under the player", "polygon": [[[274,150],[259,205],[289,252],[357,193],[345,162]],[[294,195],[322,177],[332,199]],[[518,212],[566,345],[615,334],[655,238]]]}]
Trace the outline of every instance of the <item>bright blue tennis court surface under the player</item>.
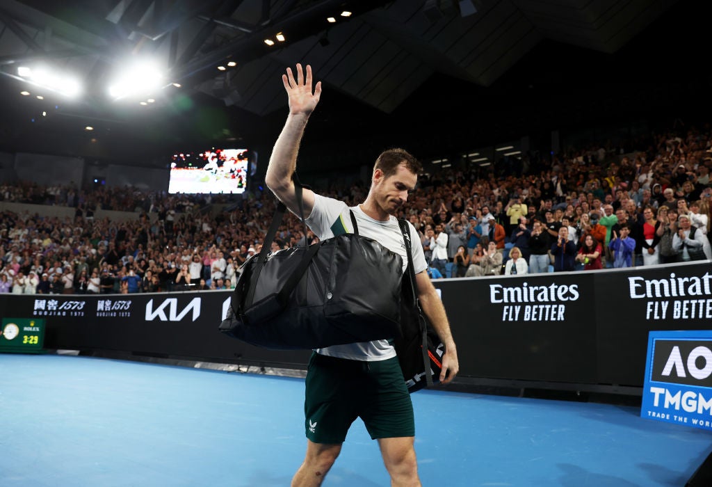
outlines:
[{"label": "bright blue tennis court surface under the player", "polygon": [[[0,485],[288,486],[303,379],[0,355]],[[447,391],[413,396],[425,486],[684,486],[706,431],[637,407]],[[362,424],[325,486],[388,486]]]}]

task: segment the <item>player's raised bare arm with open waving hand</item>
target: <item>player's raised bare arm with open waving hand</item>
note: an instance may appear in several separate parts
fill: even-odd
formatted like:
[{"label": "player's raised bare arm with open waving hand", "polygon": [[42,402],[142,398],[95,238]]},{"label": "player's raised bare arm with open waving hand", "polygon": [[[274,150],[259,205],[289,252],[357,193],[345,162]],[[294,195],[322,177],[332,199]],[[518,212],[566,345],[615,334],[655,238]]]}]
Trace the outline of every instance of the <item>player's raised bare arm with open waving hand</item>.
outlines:
[{"label": "player's raised bare arm with open waving hand", "polygon": [[[297,167],[299,143],[302,140],[309,115],[316,108],[321,96],[321,82],[316,83],[312,91],[311,66],[307,65],[305,75],[302,66],[298,64],[296,72],[296,78],[294,78],[291,68],[287,68],[287,73],[282,75],[284,89],[289,99],[289,115],[273,147],[265,177],[267,187],[294,214],[299,213],[292,182],[292,174]],[[314,206],[313,192],[305,189],[303,200],[304,216],[307,217],[311,214]]]}]

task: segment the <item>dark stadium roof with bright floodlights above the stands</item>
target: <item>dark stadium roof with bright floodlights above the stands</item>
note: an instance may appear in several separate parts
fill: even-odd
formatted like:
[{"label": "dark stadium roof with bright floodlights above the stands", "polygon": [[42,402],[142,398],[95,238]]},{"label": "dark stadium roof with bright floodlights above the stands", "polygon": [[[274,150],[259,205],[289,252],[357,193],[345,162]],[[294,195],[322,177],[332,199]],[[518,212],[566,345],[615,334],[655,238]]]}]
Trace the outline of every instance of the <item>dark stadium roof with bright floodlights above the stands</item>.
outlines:
[{"label": "dark stadium roof with bright floodlights above the stands", "polygon": [[[324,84],[317,128],[308,133],[323,150],[345,141],[351,151],[407,142],[450,147],[467,137],[521,134],[554,114],[590,110],[620,93],[621,83],[639,85],[631,96],[645,98],[660,95],[645,85],[702,67],[689,65],[698,54],[681,52],[685,42],[697,52],[708,46],[696,45],[703,37],[689,27],[703,29],[700,7],[690,5],[699,3],[4,0],[1,148],[146,164],[196,145],[268,150],[286,115],[280,75],[297,62],[310,63]],[[344,10],[352,16],[340,16]],[[263,39],[277,32],[286,41],[266,46]],[[112,70],[129,55],[151,55],[164,67],[166,88],[155,103],[105,95]],[[19,95],[26,84],[17,67],[39,61],[82,73],[83,98]],[[217,70],[228,61],[236,66]],[[707,72],[706,59],[699,61]]]}]

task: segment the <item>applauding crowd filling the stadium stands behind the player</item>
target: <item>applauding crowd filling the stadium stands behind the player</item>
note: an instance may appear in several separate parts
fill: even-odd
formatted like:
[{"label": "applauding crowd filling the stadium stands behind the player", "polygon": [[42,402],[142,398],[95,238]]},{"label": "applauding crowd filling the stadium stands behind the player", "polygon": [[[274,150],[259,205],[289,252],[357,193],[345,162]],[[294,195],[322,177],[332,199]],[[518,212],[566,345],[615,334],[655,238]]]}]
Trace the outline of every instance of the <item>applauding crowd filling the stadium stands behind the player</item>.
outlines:
[{"label": "applauding crowd filling the stadium stands behind the player", "polygon": [[[504,158],[419,179],[401,216],[422,236],[433,278],[588,271],[712,258],[712,137],[689,129],[631,149],[590,145],[552,157]],[[322,191],[353,204],[362,183]],[[73,218],[0,213],[0,293],[137,293],[233,288],[261,249],[273,197],[172,195],[73,184],[6,184],[0,201],[70,206]],[[131,221],[97,209],[135,211]],[[155,214],[155,217],[150,217]],[[293,215],[271,251],[311,244]]]}]

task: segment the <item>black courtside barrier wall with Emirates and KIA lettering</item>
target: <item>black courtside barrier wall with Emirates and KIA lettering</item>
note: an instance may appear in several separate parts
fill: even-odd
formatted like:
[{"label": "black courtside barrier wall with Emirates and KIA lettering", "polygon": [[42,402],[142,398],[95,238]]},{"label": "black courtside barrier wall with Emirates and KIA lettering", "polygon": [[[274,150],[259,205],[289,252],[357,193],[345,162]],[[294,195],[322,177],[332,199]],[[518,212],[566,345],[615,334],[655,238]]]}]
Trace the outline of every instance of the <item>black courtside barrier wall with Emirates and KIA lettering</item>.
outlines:
[{"label": "black courtside barrier wall with Emirates and KIA lettering", "polygon": [[[712,328],[709,262],[434,281],[461,377],[642,387],[650,330]],[[45,347],[305,368],[308,351],[221,335],[229,291],[0,295],[5,318],[44,318]]]}]

